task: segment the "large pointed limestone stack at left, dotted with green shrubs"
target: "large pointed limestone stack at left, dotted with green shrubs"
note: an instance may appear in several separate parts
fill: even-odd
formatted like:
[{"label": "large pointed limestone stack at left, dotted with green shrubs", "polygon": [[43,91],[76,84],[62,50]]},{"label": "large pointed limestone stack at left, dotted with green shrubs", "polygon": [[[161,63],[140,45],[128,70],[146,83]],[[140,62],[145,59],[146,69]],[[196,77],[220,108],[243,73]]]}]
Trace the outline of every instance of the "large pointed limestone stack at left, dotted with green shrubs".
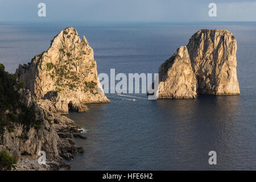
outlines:
[{"label": "large pointed limestone stack at left, dotted with green shrubs", "polygon": [[55,113],[68,113],[68,106],[83,111],[82,104],[109,102],[98,79],[93,49],[72,27],[56,35],[49,49],[31,63],[19,65],[16,74],[40,105],[51,101]]}]

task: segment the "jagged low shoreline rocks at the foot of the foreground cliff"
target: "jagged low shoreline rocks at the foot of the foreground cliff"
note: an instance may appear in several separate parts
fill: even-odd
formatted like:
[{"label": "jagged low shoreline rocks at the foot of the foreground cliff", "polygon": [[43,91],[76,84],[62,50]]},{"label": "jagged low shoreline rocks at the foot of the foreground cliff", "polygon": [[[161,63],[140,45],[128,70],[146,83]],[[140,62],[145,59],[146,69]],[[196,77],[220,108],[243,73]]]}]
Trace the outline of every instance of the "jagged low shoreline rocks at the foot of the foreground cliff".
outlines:
[{"label": "jagged low shoreline rocks at the foot of the foreground cliff", "polygon": [[48,115],[48,118],[53,119],[53,128],[59,136],[59,141],[57,142],[59,157],[46,159],[46,164],[38,163],[40,156],[38,158],[21,158],[15,164],[15,171],[56,171],[60,168],[70,169],[69,164],[66,164],[63,159],[71,160],[74,159],[77,153],[84,152],[84,148],[77,147],[74,140],[74,138],[87,138],[82,133],[81,127],[77,126],[74,121],[64,115],[50,115]]}]

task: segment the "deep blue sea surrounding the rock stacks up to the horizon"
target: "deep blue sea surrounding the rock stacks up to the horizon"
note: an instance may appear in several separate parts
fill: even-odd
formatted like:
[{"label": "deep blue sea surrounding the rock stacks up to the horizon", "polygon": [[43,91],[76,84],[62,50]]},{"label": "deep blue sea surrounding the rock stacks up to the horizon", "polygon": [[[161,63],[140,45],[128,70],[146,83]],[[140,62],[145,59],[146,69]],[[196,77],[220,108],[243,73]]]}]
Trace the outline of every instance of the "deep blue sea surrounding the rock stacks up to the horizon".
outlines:
[{"label": "deep blue sea surrounding the rock stacks up to the horizon", "polygon": [[[195,100],[126,100],[69,113],[88,129],[85,149],[68,162],[79,170],[256,169],[256,23],[0,23],[0,63],[15,72],[72,26],[94,49],[98,73],[157,73],[158,67],[201,28],[226,29],[237,39],[241,96]],[[137,96],[137,94],[134,94]],[[139,97],[146,96],[139,94]],[[217,152],[217,165],[208,152]]]}]

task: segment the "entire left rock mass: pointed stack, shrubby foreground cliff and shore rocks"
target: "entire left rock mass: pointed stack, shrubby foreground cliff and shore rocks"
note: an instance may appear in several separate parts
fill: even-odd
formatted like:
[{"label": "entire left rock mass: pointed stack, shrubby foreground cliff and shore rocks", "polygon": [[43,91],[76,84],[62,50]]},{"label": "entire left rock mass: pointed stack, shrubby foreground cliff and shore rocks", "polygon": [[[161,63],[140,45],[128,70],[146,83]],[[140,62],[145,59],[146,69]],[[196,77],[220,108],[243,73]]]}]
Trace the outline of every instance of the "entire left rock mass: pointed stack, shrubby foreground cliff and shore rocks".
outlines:
[{"label": "entire left rock mass: pointed stack, shrubby foreground cliff and shore rocks", "polygon": [[[47,51],[19,65],[15,74],[0,66],[0,155],[14,163],[6,167],[0,160],[0,170],[68,168],[63,159],[74,159],[78,152],[84,152],[74,138],[86,136],[75,121],[61,114],[69,110],[84,112],[88,103],[110,102],[85,36],[80,39],[75,28],[65,28],[53,38]],[[42,151],[46,164],[40,165]]]}]

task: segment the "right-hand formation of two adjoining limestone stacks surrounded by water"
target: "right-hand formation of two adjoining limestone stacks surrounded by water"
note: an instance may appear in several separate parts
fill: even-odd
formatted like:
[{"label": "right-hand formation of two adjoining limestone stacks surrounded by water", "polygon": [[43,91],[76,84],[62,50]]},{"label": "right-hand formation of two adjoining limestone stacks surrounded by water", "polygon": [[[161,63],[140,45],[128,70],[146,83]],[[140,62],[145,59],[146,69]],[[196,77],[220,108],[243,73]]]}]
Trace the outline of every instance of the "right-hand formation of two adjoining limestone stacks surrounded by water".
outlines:
[{"label": "right-hand formation of two adjoining limestone stacks surrounded by water", "polygon": [[200,30],[159,68],[159,98],[240,94],[237,42],[226,30]]}]

